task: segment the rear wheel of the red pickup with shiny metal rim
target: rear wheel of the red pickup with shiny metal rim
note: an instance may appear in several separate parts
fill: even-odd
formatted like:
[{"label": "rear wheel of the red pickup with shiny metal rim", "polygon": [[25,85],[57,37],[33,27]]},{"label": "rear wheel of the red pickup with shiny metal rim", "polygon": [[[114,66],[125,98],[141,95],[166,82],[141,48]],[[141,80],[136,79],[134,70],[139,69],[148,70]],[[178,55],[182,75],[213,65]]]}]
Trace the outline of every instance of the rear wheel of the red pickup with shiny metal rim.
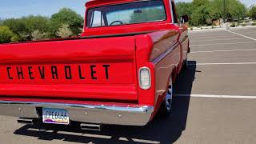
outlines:
[{"label": "rear wheel of the red pickup with shiny metal rim", "polygon": [[169,86],[166,91],[166,98],[162,102],[161,108],[160,108],[160,114],[167,115],[170,114],[172,111],[172,101],[173,101],[173,81],[172,78],[170,78]]}]

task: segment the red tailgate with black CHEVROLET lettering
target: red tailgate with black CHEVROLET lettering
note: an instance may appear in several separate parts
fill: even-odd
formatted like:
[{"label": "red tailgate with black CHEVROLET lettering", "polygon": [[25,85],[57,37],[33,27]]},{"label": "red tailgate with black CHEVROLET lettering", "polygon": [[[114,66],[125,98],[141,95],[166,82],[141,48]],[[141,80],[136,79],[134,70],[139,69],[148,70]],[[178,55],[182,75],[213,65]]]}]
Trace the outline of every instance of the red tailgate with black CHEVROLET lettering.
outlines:
[{"label": "red tailgate with black CHEVROLET lettering", "polygon": [[134,37],[0,45],[0,95],[137,100]]}]

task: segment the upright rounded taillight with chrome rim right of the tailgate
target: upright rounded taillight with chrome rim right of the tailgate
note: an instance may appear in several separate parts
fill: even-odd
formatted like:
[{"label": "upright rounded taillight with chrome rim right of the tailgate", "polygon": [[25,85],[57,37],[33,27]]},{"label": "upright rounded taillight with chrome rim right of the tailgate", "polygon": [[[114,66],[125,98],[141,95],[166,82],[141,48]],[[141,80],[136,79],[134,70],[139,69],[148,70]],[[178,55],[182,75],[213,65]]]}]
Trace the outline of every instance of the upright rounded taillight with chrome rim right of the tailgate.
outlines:
[{"label": "upright rounded taillight with chrome rim right of the tailgate", "polygon": [[143,90],[148,90],[151,87],[151,75],[148,67],[142,67],[138,70],[139,86]]}]

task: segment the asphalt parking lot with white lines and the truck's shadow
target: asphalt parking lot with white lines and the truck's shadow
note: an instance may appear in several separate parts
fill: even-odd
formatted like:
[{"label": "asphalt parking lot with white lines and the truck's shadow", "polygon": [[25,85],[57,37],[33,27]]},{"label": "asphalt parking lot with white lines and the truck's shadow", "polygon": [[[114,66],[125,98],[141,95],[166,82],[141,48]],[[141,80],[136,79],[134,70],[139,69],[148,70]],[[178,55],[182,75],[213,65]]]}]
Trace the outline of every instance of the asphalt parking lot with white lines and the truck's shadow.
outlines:
[{"label": "asphalt parking lot with white lines and the truck's shadow", "polygon": [[256,27],[192,31],[190,45],[168,118],[82,132],[0,116],[0,143],[256,143]]}]

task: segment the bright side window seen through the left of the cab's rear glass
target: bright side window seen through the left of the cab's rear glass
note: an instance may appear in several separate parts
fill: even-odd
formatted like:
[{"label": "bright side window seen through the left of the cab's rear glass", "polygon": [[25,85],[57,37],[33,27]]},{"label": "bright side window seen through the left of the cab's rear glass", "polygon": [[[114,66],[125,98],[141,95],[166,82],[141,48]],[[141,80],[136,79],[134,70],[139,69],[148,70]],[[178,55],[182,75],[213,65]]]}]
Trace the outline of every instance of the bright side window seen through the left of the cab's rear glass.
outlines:
[{"label": "bright side window seen through the left of the cab's rear glass", "polygon": [[101,11],[94,10],[90,20],[90,27],[105,26],[103,15]]}]

